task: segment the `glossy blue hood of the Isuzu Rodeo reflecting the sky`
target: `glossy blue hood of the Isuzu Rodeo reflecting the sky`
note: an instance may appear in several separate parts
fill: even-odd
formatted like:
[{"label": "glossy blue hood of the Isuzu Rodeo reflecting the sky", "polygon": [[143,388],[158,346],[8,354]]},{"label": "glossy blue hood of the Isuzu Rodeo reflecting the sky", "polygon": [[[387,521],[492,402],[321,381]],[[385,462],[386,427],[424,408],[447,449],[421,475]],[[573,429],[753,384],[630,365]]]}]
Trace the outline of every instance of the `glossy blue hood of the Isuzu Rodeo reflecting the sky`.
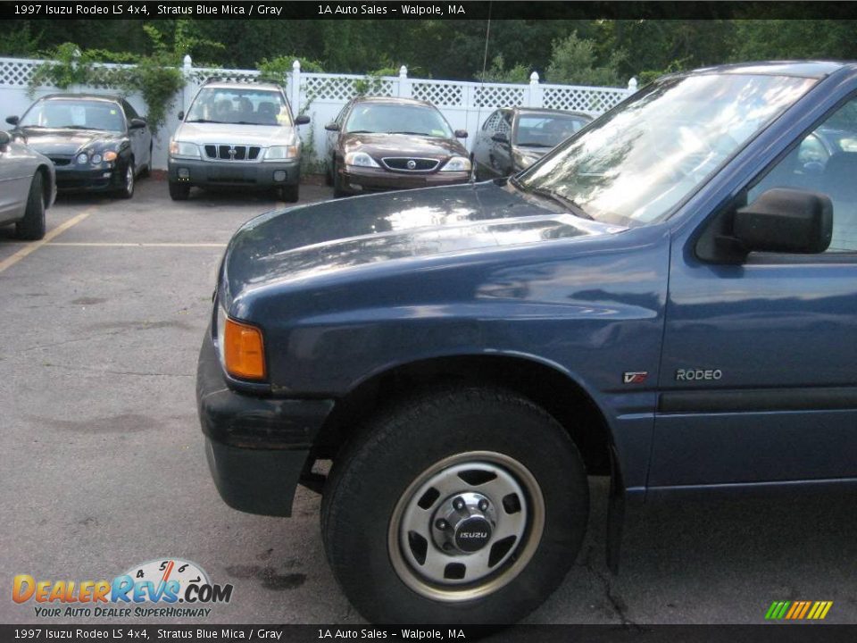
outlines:
[{"label": "glossy blue hood of the Isuzu Rodeo reflecting the sky", "polygon": [[368,264],[626,230],[557,213],[494,182],[356,196],[262,214],[229,242],[221,302]]}]

